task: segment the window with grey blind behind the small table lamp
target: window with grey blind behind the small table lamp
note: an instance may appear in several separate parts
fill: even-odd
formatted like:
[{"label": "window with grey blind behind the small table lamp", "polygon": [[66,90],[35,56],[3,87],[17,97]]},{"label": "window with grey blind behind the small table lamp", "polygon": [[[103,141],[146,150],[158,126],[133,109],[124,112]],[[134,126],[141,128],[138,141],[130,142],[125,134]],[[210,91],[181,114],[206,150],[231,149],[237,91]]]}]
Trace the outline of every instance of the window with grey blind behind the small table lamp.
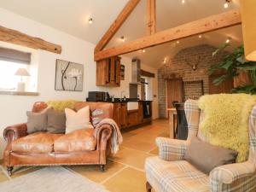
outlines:
[{"label": "window with grey blind behind the small table lamp", "polygon": [[30,53],[0,47],[0,90],[16,90],[21,81],[26,84],[26,77],[15,73],[19,68],[28,70],[30,62]]}]

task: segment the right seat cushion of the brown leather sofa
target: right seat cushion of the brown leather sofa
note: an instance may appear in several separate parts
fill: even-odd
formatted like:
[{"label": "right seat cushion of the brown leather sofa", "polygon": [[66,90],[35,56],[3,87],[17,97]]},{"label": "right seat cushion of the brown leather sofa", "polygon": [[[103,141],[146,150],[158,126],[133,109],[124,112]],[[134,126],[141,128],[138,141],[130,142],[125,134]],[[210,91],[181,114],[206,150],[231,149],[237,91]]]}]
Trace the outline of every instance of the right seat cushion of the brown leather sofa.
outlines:
[{"label": "right seat cushion of the brown leather sofa", "polygon": [[55,152],[81,152],[96,149],[94,129],[77,130],[55,140]]}]

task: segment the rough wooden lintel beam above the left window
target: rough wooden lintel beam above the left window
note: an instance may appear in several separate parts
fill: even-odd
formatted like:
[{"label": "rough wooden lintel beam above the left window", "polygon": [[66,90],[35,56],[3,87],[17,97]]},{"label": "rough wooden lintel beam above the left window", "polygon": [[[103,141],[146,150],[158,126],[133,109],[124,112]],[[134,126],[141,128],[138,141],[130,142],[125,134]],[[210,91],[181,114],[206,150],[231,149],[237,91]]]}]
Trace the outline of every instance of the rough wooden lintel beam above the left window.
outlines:
[{"label": "rough wooden lintel beam above the left window", "polygon": [[56,54],[61,54],[61,45],[52,44],[42,38],[35,38],[13,29],[0,26],[0,41],[18,44],[32,49],[43,49]]}]

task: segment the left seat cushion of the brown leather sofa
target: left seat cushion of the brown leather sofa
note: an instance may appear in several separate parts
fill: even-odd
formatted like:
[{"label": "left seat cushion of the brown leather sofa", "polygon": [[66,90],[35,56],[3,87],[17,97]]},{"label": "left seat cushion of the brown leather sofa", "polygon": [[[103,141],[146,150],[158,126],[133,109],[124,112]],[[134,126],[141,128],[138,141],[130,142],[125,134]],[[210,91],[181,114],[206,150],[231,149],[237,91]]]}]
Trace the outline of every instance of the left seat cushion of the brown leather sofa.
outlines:
[{"label": "left seat cushion of the brown leather sofa", "polygon": [[48,154],[53,152],[55,139],[61,134],[37,132],[20,137],[12,143],[12,151],[18,153]]}]

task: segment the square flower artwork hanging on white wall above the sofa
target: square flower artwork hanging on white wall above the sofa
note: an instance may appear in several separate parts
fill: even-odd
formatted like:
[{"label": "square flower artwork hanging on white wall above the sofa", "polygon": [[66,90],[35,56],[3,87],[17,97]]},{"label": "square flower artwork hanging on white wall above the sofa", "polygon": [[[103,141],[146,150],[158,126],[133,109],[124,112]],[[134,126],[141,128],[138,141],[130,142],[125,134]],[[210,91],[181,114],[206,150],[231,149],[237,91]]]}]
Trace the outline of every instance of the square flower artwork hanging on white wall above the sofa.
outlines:
[{"label": "square flower artwork hanging on white wall above the sofa", "polygon": [[55,90],[83,90],[84,66],[71,61],[56,60]]}]

